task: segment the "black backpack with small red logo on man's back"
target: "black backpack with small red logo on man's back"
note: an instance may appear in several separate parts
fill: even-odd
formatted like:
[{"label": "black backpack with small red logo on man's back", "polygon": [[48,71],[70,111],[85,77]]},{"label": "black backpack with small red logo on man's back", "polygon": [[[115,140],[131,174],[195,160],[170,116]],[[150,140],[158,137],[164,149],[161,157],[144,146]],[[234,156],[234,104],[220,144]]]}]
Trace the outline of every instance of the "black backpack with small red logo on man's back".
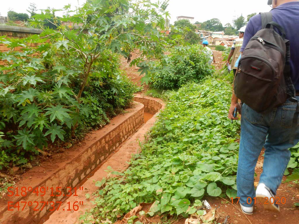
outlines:
[{"label": "black backpack with small red logo on man's back", "polygon": [[242,53],[234,79],[234,93],[259,113],[266,113],[287,99],[296,102],[293,120],[293,128],[296,128],[299,104],[290,78],[289,40],[285,39],[283,27],[273,22],[270,12],[260,14],[262,29],[249,40]]}]

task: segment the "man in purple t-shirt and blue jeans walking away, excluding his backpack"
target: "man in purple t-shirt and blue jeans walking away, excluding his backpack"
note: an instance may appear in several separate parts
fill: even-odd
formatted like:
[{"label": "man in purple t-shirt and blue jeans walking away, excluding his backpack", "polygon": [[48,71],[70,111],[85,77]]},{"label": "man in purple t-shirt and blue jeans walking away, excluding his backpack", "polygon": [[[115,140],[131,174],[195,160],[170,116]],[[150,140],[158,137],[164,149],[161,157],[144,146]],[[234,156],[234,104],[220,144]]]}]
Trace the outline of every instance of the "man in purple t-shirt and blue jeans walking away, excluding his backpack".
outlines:
[{"label": "man in purple t-shirt and blue jeans walking away, excluding his backpack", "polygon": [[[295,97],[299,100],[299,2],[294,0],[268,0],[268,4],[273,7],[270,11],[273,21],[284,28],[285,38],[289,40],[290,77],[296,90]],[[241,52],[244,51],[251,37],[261,28],[261,15],[253,16],[246,26]],[[257,75],[258,72],[257,70]],[[276,195],[291,156],[289,148],[299,141],[298,126],[296,126],[295,131],[292,129],[296,106],[297,103],[289,98],[283,105],[266,113],[258,113],[246,104],[242,106],[241,111],[237,96],[235,94],[232,96],[228,118],[238,119],[233,116],[235,107],[238,108],[239,112],[242,112],[237,196],[240,197],[239,203],[245,214],[250,215],[253,213],[254,197],[262,200],[268,197],[269,201],[265,201],[268,204],[262,203],[264,208],[279,211],[279,206],[274,202],[274,195]],[[293,141],[290,141],[290,136],[294,137]],[[263,172],[255,191],[254,168],[263,146],[266,149]],[[248,198],[251,200],[247,200]]]}]

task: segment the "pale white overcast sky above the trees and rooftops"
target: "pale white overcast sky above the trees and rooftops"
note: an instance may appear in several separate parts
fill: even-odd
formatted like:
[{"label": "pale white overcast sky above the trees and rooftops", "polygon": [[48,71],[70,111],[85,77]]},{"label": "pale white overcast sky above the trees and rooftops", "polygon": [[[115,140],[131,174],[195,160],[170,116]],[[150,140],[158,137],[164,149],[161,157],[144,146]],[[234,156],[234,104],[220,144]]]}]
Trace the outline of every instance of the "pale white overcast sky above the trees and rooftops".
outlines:
[{"label": "pale white overcast sky above the trees and rooftops", "polygon": [[[0,0],[1,16],[7,16],[7,11],[13,10],[17,13],[28,13],[26,10],[30,2],[34,2],[37,9],[45,9],[48,6],[51,8],[60,9],[64,5],[71,4],[73,7],[82,5],[85,0]],[[156,0],[152,0],[156,1]],[[267,5],[266,0],[238,0],[230,1],[231,4],[223,0],[170,0],[167,10],[171,14],[170,23],[176,21],[177,16],[194,17],[194,22],[204,22],[208,19],[220,19],[223,25],[232,23],[234,18],[241,14],[246,18],[248,14],[267,12],[271,8]],[[29,13],[28,13],[29,14]],[[58,16],[61,16],[57,12]]]}]

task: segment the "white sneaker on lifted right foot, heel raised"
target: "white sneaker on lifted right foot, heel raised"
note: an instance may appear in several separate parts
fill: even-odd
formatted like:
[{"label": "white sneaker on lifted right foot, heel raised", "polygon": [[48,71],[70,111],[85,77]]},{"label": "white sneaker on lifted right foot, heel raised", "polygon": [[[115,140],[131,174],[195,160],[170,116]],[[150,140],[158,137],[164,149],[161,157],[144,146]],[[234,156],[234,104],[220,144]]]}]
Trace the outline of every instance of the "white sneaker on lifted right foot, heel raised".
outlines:
[{"label": "white sneaker on lifted right foot, heel raised", "polygon": [[279,205],[275,203],[275,196],[264,183],[257,185],[255,192],[257,203],[264,205],[265,210],[279,212]]}]

